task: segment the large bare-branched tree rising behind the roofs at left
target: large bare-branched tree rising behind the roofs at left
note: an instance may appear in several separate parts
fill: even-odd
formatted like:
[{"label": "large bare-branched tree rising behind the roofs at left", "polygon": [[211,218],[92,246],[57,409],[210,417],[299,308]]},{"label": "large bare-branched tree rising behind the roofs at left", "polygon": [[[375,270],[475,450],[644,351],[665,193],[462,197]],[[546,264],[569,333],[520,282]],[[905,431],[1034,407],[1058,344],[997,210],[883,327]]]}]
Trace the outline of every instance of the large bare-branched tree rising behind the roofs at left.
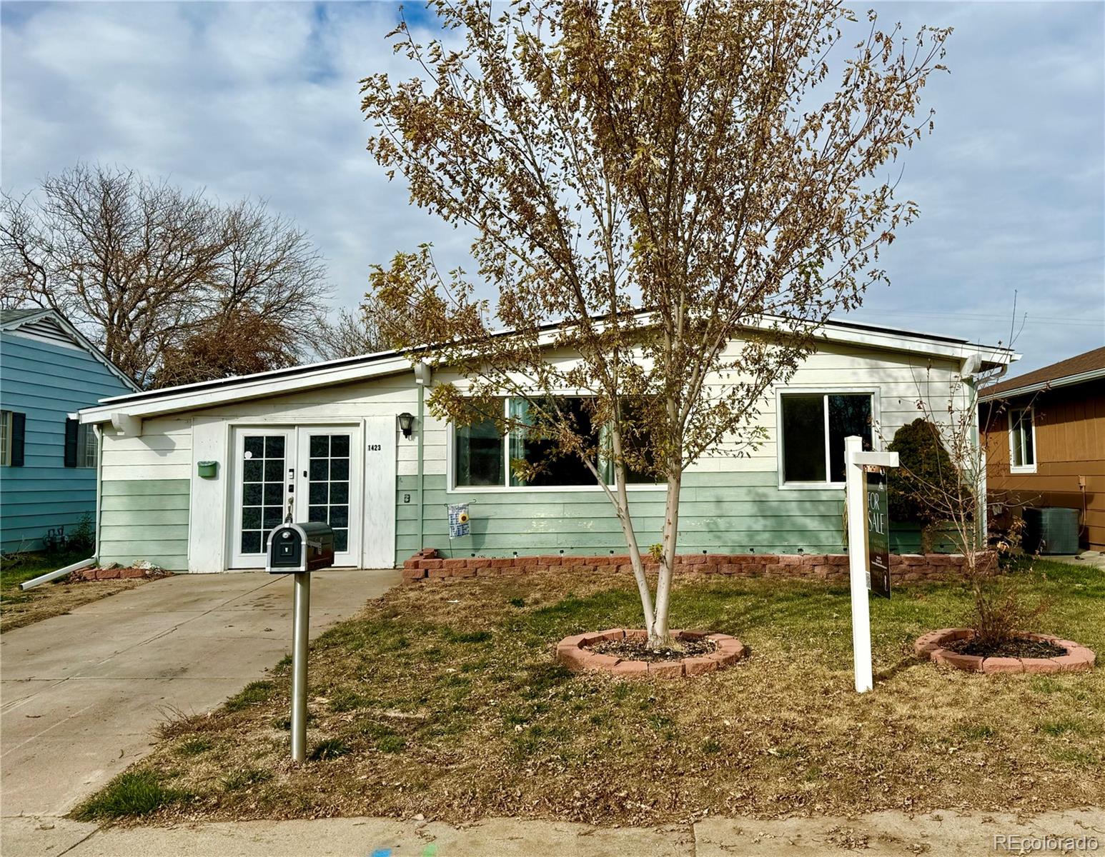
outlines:
[{"label": "large bare-branched tree rising behind the roofs at left", "polygon": [[[308,236],[264,203],[220,207],[83,163],[36,197],[3,197],[0,284],[8,304],[65,314],[141,385],[293,363],[309,347],[303,319],[328,294]],[[191,359],[215,330],[221,358],[204,346]]]}]

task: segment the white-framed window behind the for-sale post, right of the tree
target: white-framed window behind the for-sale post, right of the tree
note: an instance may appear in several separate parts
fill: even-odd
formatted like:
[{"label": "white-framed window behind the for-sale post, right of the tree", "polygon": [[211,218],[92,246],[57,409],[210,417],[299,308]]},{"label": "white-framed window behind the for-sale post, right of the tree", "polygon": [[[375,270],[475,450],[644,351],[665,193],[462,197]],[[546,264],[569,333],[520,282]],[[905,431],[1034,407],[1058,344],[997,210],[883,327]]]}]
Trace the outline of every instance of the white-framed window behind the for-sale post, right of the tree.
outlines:
[{"label": "white-framed window behind the for-sale post, right of the tree", "polygon": [[844,438],[859,435],[871,449],[871,393],[782,393],[779,445],[782,482],[836,485],[844,482]]}]

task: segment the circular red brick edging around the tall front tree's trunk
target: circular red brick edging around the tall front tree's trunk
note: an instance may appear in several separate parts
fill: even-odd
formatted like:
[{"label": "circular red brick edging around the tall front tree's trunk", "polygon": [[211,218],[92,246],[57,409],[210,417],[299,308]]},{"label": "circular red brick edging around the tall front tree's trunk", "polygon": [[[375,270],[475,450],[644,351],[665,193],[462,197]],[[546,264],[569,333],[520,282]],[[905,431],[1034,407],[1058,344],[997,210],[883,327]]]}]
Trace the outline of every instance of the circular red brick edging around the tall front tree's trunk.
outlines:
[{"label": "circular red brick edging around the tall front tree's trunk", "polygon": [[708,655],[696,655],[680,660],[657,663],[622,660],[613,655],[600,655],[597,652],[591,652],[591,646],[606,641],[644,641],[648,638],[648,634],[644,631],[610,628],[609,631],[599,631],[593,634],[576,634],[565,637],[557,644],[556,659],[568,667],[568,669],[577,673],[599,670],[625,678],[644,678],[645,676],[682,678],[683,676],[698,676],[704,673],[714,673],[748,657],[748,648],[745,644],[736,637],[730,637],[728,634],[708,634],[705,631],[673,631],[672,636],[676,639],[709,639],[714,642],[717,648]]}]

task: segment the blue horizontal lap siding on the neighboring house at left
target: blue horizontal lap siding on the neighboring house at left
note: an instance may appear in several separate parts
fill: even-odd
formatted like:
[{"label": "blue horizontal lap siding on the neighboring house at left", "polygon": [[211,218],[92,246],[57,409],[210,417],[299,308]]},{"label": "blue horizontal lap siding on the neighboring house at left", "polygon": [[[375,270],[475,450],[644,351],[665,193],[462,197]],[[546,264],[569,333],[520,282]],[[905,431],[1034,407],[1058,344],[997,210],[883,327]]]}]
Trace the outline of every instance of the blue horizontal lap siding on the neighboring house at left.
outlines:
[{"label": "blue horizontal lap siding on the neighboring house at left", "polygon": [[86,351],[0,335],[0,406],[27,414],[24,464],[0,476],[0,547],[41,547],[49,530],[72,531],[96,508],[96,470],[65,467],[65,419],[101,398],[130,392]]}]

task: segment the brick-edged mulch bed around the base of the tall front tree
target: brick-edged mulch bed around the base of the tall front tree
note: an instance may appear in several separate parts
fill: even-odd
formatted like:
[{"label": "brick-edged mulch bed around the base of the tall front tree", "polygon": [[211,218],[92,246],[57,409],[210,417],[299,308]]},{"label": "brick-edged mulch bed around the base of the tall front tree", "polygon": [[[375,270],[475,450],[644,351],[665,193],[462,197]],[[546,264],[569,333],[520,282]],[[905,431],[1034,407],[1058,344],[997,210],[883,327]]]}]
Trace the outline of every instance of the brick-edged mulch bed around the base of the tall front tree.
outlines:
[{"label": "brick-edged mulch bed around the base of the tall front tree", "polygon": [[675,646],[650,649],[644,631],[610,628],[575,634],[557,644],[557,660],[576,671],[598,670],[624,678],[681,678],[714,673],[748,656],[728,634],[673,631]]}]

